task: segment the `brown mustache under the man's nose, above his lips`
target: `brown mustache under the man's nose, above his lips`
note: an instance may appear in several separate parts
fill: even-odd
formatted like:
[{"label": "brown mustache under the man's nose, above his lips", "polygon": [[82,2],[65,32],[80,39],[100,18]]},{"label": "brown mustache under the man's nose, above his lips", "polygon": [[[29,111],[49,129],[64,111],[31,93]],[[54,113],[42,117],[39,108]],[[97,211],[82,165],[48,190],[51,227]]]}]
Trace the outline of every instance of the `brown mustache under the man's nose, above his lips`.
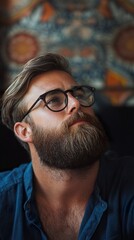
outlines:
[{"label": "brown mustache under the man's nose, above his lips", "polygon": [[62,123],[62,125],[64,128],[69,129],[69,127],[77,121],[85,121],[85,122],[89,123],[90,126],[94,126],[99,129],[102,129],[102,125],[95,115],[92,116],[90,114],[86,114],[83,112],[74,113],[64,123]]}]

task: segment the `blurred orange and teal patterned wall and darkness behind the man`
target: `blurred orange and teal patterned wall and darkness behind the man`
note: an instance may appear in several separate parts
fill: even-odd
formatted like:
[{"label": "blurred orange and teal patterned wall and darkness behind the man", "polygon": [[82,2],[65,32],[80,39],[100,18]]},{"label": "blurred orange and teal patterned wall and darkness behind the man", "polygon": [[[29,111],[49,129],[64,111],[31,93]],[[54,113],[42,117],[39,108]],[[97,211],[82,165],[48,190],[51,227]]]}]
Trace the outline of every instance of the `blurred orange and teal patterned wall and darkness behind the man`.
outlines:
[{"label": "blurred orange and teal patterned wall and darkness behind the man", "polygon": [[[66,56],[76,80],[96,88],[111,149],[134,155],[134,1],[1,0],[0,96],[29,59],[47,52]],[[27,161],[0,122],[0,171]]]}]

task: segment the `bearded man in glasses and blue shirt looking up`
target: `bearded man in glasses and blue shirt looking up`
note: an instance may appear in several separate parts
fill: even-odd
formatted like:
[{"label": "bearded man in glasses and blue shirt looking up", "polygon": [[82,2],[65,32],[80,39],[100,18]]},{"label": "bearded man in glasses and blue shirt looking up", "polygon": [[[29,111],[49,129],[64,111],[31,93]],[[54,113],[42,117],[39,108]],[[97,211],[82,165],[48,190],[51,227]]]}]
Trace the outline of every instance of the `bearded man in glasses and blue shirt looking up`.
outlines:
[{"label": "bearded man in glasses and blue shirt looking up", "polygon": [[134,159],[104,154],[94,91],[52,53],[6,90],[2,121],[31,163],[0,174],[0,239],[134,239]]}]

